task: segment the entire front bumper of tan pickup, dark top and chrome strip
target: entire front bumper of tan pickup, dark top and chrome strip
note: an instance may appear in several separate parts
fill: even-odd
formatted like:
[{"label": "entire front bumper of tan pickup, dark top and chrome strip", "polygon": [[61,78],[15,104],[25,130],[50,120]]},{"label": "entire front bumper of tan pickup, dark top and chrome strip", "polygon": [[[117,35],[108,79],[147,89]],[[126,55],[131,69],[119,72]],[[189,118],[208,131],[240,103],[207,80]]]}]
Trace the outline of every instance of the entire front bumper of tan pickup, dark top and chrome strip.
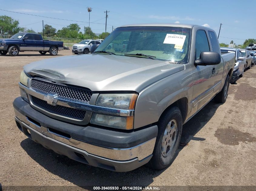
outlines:
[{"label": "entire front bumper of tan pickup, dark top and chrome strip", "polygon": [[52,119],[34,110],[21,97],[13,105],[17,126],[25,135],[73,160],[125,172],[146,164],[152,157],[157,126],[136,132],[116,132]]}]

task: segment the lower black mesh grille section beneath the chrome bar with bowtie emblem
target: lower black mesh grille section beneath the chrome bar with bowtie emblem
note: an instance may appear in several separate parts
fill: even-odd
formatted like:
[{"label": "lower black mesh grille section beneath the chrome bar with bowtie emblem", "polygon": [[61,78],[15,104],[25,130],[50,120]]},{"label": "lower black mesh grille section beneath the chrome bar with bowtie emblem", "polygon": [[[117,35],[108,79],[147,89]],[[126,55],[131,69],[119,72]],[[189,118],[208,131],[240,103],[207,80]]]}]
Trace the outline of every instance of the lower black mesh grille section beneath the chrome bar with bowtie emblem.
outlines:
[{"label": "lower black mesh grille section beneath the chrome bar with bowtie emblem", "polygon": [[32,103],[48,112],[55,113],[58,115],[70,117],[73,119],[84,119],[86,111],[78,110],[70,107],[64,107],[60,105],[49,105],[46,101],[41,100],[37,97],[31,96]]}]

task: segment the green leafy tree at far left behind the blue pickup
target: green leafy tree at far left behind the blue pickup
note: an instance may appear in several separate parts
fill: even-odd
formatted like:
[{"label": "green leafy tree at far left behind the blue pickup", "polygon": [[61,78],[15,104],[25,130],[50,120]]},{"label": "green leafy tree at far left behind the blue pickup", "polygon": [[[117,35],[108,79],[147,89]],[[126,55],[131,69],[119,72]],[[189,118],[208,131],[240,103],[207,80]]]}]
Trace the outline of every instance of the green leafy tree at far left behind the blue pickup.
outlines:
[{"label": "green leafy tree at far left behind the blue pickup", "polygon": [[18,33],[24,28],[19,27],[19,21],[14,20],[11,17],[8,17],[6,15],[1,15],[0,16],[0,35],[4,35],[5,33],[8,34],[15,34]]}]

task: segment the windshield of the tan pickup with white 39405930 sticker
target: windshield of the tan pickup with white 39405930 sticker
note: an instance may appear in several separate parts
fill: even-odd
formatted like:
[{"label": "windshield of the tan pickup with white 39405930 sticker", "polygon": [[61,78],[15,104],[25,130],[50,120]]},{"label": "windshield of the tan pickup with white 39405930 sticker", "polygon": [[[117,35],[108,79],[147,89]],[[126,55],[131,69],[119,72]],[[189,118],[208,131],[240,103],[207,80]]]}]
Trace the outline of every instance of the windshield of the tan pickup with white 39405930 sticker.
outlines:
[{"label": "windshield of the tan pickup with white 39405930 sticker", "polygon": [[114,30],[97,51],[121,56],[144,54],[159,60],[188,62],[190,33],[191,29],[182,27],[121,27]]}]

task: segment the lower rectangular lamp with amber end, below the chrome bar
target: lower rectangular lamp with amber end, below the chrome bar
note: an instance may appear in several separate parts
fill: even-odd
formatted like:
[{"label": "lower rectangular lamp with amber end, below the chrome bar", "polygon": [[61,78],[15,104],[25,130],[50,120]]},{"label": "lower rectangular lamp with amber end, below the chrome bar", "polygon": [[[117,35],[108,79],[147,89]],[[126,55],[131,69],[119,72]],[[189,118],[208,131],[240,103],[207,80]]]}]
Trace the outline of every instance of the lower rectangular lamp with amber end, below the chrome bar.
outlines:
[{"label": "lower rectangular lamp with amber end, below the chrome bar", "polygon": [[133,128],[133,116],[120,117],[93,113],[90,123],[105,127],[129,130]]}]

